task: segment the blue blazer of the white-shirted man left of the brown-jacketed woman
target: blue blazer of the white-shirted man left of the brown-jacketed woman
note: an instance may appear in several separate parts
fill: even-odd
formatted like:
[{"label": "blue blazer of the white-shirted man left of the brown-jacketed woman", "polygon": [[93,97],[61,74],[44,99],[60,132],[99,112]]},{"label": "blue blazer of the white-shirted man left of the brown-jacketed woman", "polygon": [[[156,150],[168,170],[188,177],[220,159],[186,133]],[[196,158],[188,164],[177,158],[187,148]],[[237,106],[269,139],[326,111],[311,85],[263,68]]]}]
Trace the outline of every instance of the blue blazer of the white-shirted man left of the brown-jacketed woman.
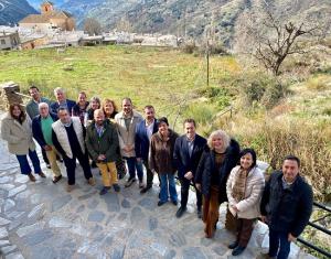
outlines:
[{"label": "blue blazer of the white-shirted man left of the brown-jacketed woman", "polygon": [[[148,161],[149,152],[149,139],[146,130],[146,120],[140,121],[136,127],[136,137],[135,137],[135,151],[136,158],[141,158],[143,161]],[[158,132],[158,120],[154,121],[153,132]]]}]

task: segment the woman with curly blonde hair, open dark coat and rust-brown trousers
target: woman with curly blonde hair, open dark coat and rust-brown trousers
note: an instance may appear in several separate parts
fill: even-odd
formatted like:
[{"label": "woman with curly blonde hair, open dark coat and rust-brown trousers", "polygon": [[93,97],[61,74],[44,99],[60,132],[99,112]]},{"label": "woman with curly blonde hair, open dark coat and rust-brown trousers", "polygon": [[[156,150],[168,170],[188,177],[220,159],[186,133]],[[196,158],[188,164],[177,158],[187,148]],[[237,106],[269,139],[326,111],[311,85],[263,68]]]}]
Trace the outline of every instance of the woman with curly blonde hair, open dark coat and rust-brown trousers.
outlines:
[{"label": "woman with curly blonde hair, open dark coat and rust-brown trousers", "polygon": [[207,139],[195,175],[195,185],[203,194],[203,222],[206,238],[212,238],[218,222],[220,205],[227,201],[226,181],[236,165],[239,144],[223,130],[216,130]]}]

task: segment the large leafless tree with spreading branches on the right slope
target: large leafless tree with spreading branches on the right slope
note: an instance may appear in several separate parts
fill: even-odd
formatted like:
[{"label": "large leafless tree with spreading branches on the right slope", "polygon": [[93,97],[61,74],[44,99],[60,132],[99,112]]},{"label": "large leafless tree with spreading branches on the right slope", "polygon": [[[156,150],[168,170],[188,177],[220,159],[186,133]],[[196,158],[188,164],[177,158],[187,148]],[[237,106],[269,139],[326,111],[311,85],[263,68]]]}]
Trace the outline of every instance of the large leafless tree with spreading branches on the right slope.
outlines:
[{"label": "large leafless tree with spreading branches on the right slope", "polygon": [[246,53],[249,52],[276,76],[280,74],[280,66],[287,56],[306,53],[300,39],[320,32],[319,24],[314,22],[281,20],[269,8],[259,9],[258,12],[247,11],[237,29],[238,42],[242,41]]}]

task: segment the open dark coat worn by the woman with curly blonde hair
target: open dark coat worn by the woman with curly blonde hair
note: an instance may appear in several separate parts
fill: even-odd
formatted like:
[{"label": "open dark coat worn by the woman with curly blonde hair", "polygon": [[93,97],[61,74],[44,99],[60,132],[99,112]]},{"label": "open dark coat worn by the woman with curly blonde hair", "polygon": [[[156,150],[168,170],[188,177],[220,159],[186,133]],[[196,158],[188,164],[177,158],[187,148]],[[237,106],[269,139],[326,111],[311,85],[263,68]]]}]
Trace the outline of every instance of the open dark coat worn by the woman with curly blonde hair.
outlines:
[{"label": "open dark coat worn by the woman with curly blonde hair", "polygon": [[[227,195],[226,195],[226,181],[231,173],[231,170],[236,166],[238,160],[239,160],[239,152],[241,147],[238,142],[234,139],[231,140],[229,145],[226,149],[226,154],[224,162],[220,169],[218,173],[218,190],[220,190],[220,196],[218,202],[224,203],[227,202]],[[214,151],[206,149],[202,158],[200,160],[196,174],[195,174],[195,183],[201,184],[202,187],[202,194],[206,197],[210,196],[210,191],[212,186],[212,174],[216,171],[216,164],[215,164],[215,153]]]}]

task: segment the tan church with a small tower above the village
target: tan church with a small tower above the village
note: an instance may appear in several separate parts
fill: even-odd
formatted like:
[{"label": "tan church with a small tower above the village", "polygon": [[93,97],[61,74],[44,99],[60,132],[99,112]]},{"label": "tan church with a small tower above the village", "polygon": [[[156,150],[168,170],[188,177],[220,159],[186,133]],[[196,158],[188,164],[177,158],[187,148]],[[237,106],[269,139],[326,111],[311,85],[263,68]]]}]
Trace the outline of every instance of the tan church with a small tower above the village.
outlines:
[{"label": "tan church with a small tower above the village", "polygon": [[47,33],[55,29],[62,31],[75,30],[75,20],[66,11],[56,10],[50,1],[41,4],[41,14],[30,14],[19,22],[21,28],[33,29],[36,32]]}]

